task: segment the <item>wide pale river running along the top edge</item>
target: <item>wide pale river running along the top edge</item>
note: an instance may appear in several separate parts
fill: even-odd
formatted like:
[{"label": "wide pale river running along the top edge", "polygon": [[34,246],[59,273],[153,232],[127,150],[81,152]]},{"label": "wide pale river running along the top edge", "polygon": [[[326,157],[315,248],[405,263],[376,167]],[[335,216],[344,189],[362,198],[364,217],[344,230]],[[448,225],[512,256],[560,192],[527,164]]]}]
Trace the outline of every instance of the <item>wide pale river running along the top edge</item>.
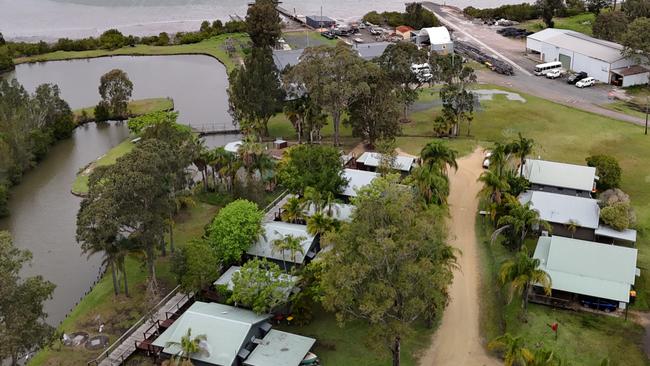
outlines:
[{"label": "wide pale river running along the top edge", "polygon": [[[10,39],[48,41],[98,36],[117,28],[133,35],[197,30],[203,20],[244,16],[251,0],[0,0],[0,32]],[[298,14],[359,19],[370,10],[403,11],[405,0],[283,0]],[[460,8],[526,0],[437,0]]]}]

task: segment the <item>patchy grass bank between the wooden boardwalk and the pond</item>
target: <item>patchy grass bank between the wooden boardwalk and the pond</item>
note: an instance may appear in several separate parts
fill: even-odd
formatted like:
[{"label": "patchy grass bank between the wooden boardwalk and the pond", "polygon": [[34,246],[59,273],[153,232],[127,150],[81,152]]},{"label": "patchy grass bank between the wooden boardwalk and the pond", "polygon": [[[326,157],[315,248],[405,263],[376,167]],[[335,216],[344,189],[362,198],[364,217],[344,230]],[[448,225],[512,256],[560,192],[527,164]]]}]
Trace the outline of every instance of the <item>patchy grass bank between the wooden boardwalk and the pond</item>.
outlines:
[{"label": "patchy grass bank between the wooden boardwalk and the pond", "polygon": [[[199,202],[197,205],[181,211],[176,217],[174,229],[177,247],[182,247],[192,238],[200,237],[203,234],[203,226],[212,220],[218,209],[217,206]],[[135,255],[127,258],[126,267],[131,297],[114,296],[113,282],[108,274],[102,277],[90,293],[66,317],[59,326],[59,330],[68,334],[85,331],[94,336],[98,334],[99,324],[104,323],[104,334],[109,336],[110,342],[113,342],[137,319],[142,317],[147,310],[147,304],[155,303],[145,295],[146,270],[142,266],[142,259]],[[162,287],[160,291],[162,294],[166,294],[175,286],[169,256],[158,259],[156,274]],[[29,365],[85,365],[86,362],[96,358],[99,353],[101,351],[56,345],[38,352]]]}]

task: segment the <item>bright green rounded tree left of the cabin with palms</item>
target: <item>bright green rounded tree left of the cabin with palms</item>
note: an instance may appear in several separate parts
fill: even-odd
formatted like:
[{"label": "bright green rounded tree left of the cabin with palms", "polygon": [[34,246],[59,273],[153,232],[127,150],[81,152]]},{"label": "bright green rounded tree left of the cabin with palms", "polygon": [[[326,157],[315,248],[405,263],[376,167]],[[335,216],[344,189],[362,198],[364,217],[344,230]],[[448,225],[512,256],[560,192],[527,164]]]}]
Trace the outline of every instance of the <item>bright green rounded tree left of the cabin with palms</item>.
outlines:
[{"label": "bright green rounded tree left of the cabin with palms", "polygon": [[224,265],[238,262],[263,234],[264,213],[253,202],[236,200],[222,208],[208,229],[208,243]]}]

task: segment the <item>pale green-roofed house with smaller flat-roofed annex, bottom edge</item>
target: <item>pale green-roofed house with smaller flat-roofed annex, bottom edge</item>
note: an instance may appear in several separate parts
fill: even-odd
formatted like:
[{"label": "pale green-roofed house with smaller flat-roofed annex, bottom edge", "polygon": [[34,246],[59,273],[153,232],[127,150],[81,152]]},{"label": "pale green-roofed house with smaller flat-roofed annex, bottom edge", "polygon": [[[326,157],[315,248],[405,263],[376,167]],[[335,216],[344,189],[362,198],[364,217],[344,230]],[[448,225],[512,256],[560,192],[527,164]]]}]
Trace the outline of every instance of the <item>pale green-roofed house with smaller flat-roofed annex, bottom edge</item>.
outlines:
[{"label": "pale green-roofed house with smaller flat-roofed annex, bottom edge", "polygon": [[299,366],[315,339],[271,329],[270,314],[218,303],[195,302],[153,345],[161,357],[181,352],[180,342],[188,330],[203,335],[199,352],[190,355],[197,366]]}]

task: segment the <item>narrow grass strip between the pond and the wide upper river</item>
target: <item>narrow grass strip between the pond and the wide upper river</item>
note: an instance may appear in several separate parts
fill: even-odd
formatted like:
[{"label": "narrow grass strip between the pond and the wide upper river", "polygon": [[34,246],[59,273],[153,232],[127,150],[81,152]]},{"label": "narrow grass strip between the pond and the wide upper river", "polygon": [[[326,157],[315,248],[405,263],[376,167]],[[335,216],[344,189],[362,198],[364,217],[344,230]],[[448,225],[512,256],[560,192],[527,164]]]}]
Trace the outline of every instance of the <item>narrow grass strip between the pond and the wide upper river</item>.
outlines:
[{"label": "narrow grass strip between the pond and the wide upper river", "polygon": [[[228,38],[238,45],[234,57],[228,55],[225,50],[225,42]],[[95,58],[106,56],[160,56],[160,55],[207,55],[216,58],[226,66],[228,71],[237,64],[238,58],[243,54],[243,49],[248,48],[248,35],[244,33],[222,34],[203,40],[198,43],[172,46],[149,46],[136,45],[133,47],[122,47],[116,50],[92,50],[92,51],[57,51],[31,57],[19,57],[14,59],[16,65],[27,62],[44,62],[58,60],[72,60],[80,58]]]}]

